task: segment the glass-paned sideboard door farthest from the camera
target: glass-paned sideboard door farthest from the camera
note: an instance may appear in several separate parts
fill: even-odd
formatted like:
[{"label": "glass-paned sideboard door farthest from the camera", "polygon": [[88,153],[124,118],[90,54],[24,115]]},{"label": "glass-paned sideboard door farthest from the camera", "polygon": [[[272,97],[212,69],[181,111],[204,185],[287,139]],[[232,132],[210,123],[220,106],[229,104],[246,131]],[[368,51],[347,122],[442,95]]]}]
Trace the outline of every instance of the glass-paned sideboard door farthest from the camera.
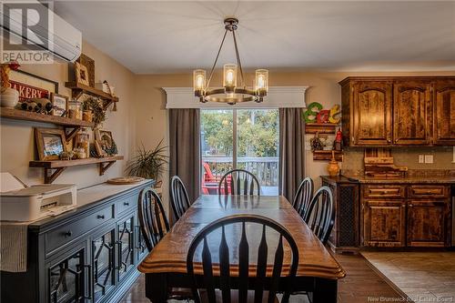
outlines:
[{"label": "glass-paned sideboard door farthest from the camera", "polygon": [[135,265],[134,230],[135,216],[131,215],[117,224],[118,278],[122,279]]}]

